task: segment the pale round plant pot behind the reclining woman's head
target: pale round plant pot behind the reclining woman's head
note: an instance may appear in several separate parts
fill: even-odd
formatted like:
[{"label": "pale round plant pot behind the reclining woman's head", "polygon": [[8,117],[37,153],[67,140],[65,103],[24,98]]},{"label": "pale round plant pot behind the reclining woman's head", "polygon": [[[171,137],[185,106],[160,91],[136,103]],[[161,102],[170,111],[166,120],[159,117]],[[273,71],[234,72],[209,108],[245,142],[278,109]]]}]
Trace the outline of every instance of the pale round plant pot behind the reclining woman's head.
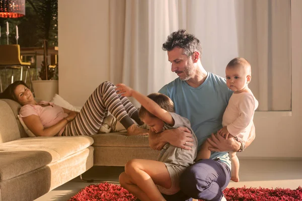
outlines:
[{"label": "pale round plant pot behind the reclining woman's head", "polygon": [[50,101],[58,93],[58,80],[33,80],[35,98]]}]

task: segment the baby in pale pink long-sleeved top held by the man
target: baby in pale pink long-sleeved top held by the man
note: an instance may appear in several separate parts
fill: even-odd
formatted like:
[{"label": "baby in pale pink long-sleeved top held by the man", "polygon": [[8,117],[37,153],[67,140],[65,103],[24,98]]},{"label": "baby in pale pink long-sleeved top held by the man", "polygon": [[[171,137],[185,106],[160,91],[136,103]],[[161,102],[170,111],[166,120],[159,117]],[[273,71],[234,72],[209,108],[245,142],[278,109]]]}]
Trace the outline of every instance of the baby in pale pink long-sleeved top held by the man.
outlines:
[{"label": "baby in pale pink long-sleeved top held by the man", "polygon": [[[253,124],[254,112],[258,107],[258,101],[254,97],[248,84],[251,81],[251,65],[244,58],[235,58],[225,68],[226,85],[234,91],[226,107],[222,126],[217,134],[225,138],[235,137],[237,141],[244,142],[249,137]],[[231,135],[230,135],[231,134]],[[210,157],[209,143],[205,141],[201,145],[196,161]],[[231,180],[239,181],[239,160],[236,152],[230,152],[232,162]]]}]

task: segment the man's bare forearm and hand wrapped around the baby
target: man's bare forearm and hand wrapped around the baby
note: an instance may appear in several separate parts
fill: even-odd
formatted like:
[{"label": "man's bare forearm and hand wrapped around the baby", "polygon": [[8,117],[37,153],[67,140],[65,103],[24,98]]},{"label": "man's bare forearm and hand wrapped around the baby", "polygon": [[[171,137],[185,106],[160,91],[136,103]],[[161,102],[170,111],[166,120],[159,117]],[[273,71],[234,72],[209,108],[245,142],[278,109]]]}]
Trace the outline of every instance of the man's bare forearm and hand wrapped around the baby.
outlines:
[{"label": "man's bare forearm and hand wrapped around the baby", "polygon": [[[256,137],[255,134],[255,125],[253,124],[251,128],[250,135],[245,142],[246,148],[254,141]],[[225,152],[238,152],[241,146],[241,143],[236,141],[235,138],[225,139],[221,135],[212,134],[211,137],[207,139],[212,147],[209,147],[211,151],[225,151]]]}]

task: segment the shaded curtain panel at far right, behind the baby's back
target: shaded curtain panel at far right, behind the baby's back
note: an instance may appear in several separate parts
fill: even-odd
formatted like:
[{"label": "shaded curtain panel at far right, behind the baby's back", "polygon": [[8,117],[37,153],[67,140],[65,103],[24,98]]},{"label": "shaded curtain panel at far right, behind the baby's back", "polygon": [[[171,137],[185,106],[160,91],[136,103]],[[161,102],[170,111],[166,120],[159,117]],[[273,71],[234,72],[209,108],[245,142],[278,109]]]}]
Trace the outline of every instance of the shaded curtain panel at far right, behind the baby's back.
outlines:
[{"label": "shaded curtain panel at far right, behind the baby's back", "polygon": [[291,110],[289,0],[236,1],[239,55],[252,65],[259,111]]}]

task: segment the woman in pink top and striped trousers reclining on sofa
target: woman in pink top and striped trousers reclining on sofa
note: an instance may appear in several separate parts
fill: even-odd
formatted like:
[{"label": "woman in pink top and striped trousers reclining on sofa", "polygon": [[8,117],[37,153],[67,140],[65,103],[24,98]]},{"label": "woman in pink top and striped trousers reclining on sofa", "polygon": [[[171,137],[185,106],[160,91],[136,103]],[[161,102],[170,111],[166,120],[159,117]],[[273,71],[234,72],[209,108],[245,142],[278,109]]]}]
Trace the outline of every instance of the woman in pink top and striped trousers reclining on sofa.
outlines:
[{"label": "woman in pink top and striped trousers reclining on sofa", "polygon": [[[139,128],[143,122],[131,102],[115,91],[116,86],[103,82],[90,95],[80,113],[61,108],[52,103],[34,99],[26,83],[15,81],[0,94],[0,98],[13,99],[22,105],[20,116],[36,136],[73,136],[97,134],[108,111],[126,128],[128,135],[147,135]],[[132,118],[132,119],[131,119]]]}]

